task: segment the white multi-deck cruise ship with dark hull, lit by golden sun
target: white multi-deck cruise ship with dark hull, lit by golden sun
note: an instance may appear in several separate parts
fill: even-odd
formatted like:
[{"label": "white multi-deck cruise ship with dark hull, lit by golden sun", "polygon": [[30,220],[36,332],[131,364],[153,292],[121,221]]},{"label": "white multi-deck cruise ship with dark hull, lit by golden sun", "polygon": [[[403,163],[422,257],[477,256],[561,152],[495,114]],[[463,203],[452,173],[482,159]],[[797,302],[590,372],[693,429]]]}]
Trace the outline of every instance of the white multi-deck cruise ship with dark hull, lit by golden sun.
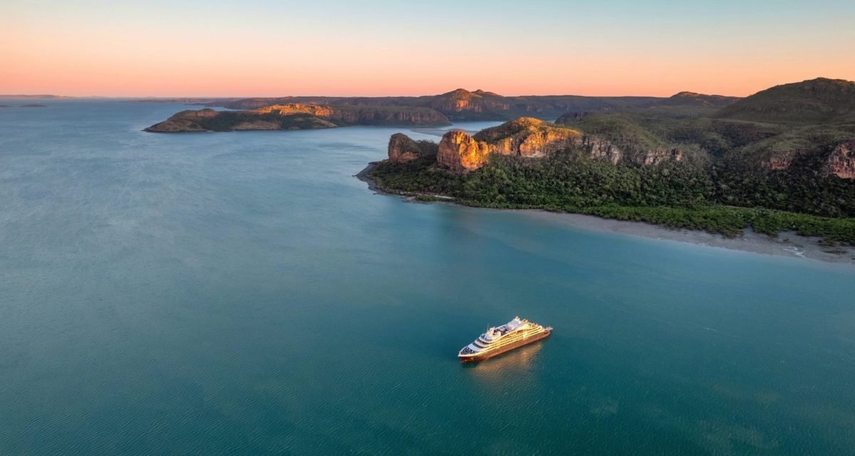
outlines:
[{"label": "white multi-deck cruise ship with dark hull, lit by golden sun", "polygon": [[540,341],[551,332],[551,326],[544,327],[527,319],[514,317],[508,323],[486,330],[475,342],[463,347],[457,357],[463,362],[486,360],[528,343]]}]

